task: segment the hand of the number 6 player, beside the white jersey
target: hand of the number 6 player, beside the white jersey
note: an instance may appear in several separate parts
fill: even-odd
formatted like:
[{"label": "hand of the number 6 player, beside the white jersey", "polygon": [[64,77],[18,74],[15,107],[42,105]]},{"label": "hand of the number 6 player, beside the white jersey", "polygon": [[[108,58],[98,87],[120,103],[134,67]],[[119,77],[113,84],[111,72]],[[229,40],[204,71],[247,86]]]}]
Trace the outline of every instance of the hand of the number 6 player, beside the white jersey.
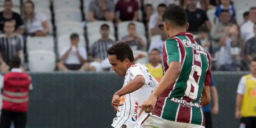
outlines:
[{"label": "hand of the number 6 player, beside the white jersey", "polygon": [[155,102],[157,100],[157,97],[154,95],[150,95],[150,97],[138,107],[141,108],[141,111],[139,113],[139,117],[141,116],[142,112],[145,111],[145,113],[150,113],[155,108]]}]

